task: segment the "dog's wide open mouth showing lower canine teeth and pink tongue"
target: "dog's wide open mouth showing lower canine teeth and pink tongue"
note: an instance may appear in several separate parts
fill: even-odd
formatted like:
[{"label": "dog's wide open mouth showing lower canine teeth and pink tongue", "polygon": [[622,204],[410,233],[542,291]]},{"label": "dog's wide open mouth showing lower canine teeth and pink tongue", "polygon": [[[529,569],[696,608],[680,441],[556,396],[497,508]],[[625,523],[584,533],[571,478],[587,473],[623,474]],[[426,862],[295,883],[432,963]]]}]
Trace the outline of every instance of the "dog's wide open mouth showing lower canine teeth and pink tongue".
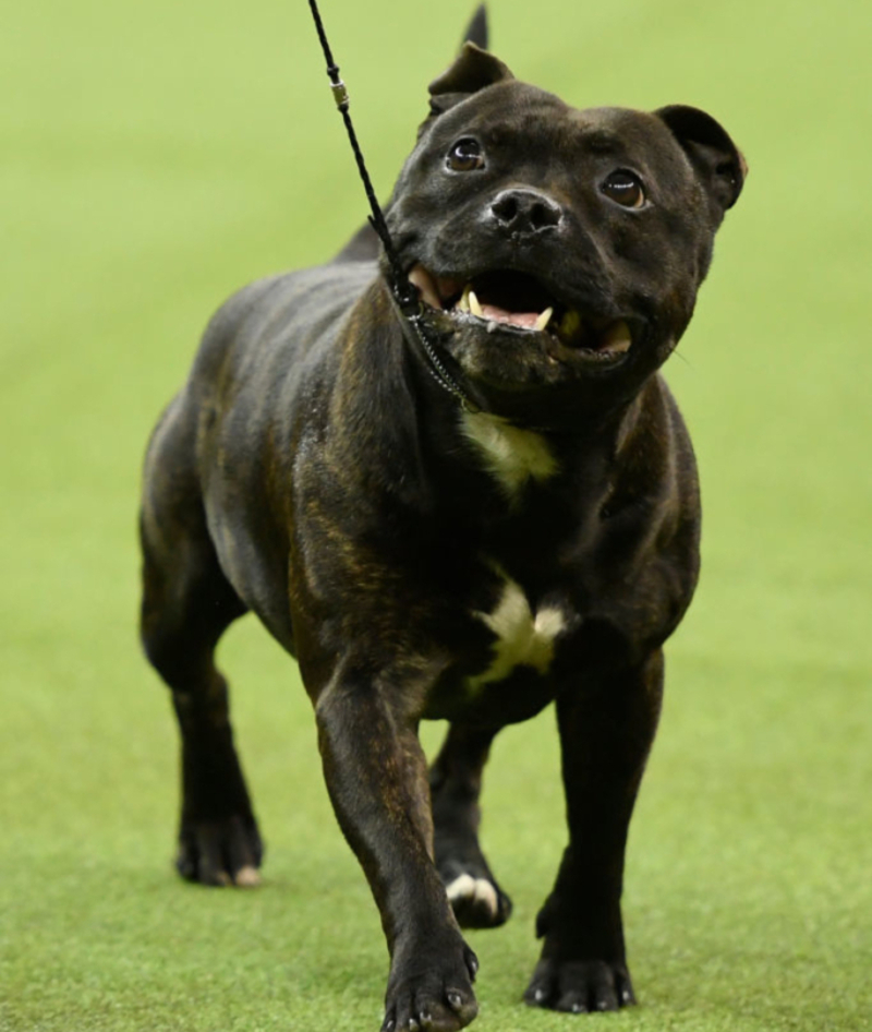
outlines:
[{"label": "dog's wide open mouth showing lower canine teeth and pink tongue", "polygon": [[560,302],[526,273],[493,271],[464,281],[434,276],[417,264],[409,280],[425,304],[458,317],[481,320],[489,333],[500,326],[547,333],[568,348],[603,358],[625,355],[633,343],[626,320],[584,314]]}]

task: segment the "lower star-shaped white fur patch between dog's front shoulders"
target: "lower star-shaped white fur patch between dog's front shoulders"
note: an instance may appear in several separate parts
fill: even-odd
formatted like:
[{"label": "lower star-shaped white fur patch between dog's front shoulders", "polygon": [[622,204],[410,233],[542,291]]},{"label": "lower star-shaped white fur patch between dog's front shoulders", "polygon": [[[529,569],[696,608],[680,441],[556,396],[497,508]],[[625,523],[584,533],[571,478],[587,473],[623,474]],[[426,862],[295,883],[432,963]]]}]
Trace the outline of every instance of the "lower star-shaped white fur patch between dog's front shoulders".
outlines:
[{"label": "lower star-shaped white fur patch between dog's front shoulders", "polygon": [[530,609],[521,586],[506,578],[499,604],[493,613],[474,614],[496,635],[494,659],[484,673],[470,677],[475,692],[485,684],[502,681],[516,667],[532,667],[547,673],[554,658],[554,639],[566,627],[566,616],[556,605],[545,605],[536,613]]}]

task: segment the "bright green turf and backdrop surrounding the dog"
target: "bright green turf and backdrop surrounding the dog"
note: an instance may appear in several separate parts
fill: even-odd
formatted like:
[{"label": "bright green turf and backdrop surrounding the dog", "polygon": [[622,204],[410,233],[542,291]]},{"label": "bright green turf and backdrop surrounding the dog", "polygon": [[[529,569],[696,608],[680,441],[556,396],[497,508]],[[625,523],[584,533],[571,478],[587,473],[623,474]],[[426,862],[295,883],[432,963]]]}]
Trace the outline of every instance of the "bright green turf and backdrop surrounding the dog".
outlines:
[{"label": "bright green turf and backdrop surrounding the dog", "polygon": [[[470,9],[325,0],[383,194]],[[492,15],[522,77],[579,106],[706,108],[751,176],[669,367],[704,575],[631,835],[643,1005],[519,1004],[564,842],[545,715],[489,767],[485,840],[516,916],[472,936],[476,1028],[872,1028],[872,15]],[[222,647],[269,852],[262,890],[198,890],[169,865],[175,734],[135,636],[141,455],[205,320],[365,214],[306,5],[17,4],[0,86],[0,1029],[375,1030],[380,929],[293,664],[252,621]]]}]

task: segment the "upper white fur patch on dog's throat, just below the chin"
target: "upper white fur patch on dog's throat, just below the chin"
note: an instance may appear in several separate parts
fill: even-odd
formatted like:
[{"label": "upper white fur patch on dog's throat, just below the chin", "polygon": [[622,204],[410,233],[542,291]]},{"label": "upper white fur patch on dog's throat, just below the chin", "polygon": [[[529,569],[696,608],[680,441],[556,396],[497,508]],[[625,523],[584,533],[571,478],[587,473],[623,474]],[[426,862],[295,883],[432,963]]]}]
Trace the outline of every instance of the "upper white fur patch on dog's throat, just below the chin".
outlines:
[{"label": "upper white fur patch on dog's throat, just below the chin", "polygon": [[528,480],[547,480],[557,472],[557,459],[548,442],[535,430],[513,427],[487,412],[463,412],[462,428],[512,501]]}]

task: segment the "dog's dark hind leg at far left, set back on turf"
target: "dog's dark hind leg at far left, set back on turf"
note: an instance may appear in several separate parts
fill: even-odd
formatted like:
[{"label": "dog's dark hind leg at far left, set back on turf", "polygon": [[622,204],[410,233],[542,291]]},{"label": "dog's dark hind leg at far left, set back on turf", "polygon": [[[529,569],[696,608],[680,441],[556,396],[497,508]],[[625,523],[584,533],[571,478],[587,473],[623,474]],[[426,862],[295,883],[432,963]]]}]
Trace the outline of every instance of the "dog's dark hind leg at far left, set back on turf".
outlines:
[{"label": "dog's dark hind leg at far left, set back on turf", "polygon": [[208,535],[192,437],[171,406],[146,461],[142,640],[172,692],[182,737],[179,873],[204,885],[254,885],[263,847],[233,745],[227,682],[214,659],[245,605]]}]

